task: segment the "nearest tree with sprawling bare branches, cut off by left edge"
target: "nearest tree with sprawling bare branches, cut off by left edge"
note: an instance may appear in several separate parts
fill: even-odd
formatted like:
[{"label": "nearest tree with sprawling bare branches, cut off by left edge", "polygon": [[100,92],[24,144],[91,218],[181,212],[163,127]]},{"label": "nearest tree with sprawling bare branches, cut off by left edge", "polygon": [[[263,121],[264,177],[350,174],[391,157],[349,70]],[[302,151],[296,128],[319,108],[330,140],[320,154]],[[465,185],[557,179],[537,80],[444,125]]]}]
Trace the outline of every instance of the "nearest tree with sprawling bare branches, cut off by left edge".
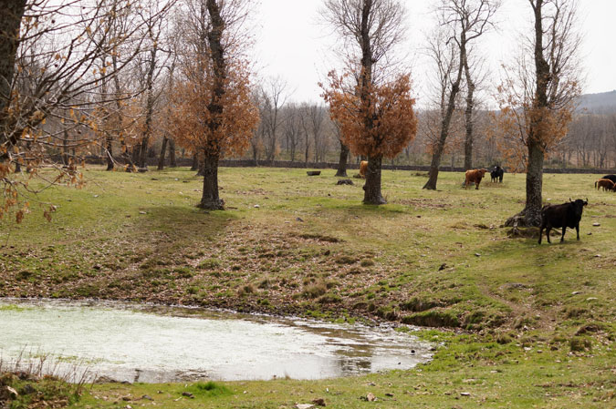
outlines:
[{"label": "nearest tree with sprawling bare branches, cut off by left edge", "polygon": [[[16,195],[19,186],[28,189],[11,181],[16,158],[28,158],[36,167],[47,160],[54,147],[75,149],[92,143],[98,124],[91,113],[95,103],[101,102],[92,96],[99,94],[102,80],[126,66],[139,50],[138,41],[132,55],[119,66],[111,66],[106,59],[139,29],[134,25],[122,36],[112,30],[132,7],[128,0],[0,3],[0,179]],[[108,13],[110,8],[117,13]],[[21,89],[26,92],[20,92],[20,84],[25,82],[28,87]],[[67,146],[64,129],[46,132],[44,125],[52,117],[77,134],[71,138],[72,147]],[[83,124],[92,132],[78,134]],[[74,165],[57,169],[62,175],[59,179],[79,180]],[[8,201],[9,205],[17,202]],[[18,212],[18,220],[23,213]]]}]

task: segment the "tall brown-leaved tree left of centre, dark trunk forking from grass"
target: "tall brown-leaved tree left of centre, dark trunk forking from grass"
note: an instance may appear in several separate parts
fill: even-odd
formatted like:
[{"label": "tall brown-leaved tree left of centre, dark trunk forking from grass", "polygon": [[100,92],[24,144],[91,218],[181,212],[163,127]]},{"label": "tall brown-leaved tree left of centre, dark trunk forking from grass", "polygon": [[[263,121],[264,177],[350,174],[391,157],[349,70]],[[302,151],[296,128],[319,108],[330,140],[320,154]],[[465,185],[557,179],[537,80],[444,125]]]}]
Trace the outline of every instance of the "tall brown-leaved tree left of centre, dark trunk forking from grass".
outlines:
[{"label": "tall brown-leaved tree left of centre, dark trunk forking from grass", "polygon": [[247,0],[187,2],[187,30],[172,120],[178,144],[203,155],[204,189],[199,207],[223,210],[218,162],[250,146],[258,125],[251,97],[251,72],[243,57]]}]

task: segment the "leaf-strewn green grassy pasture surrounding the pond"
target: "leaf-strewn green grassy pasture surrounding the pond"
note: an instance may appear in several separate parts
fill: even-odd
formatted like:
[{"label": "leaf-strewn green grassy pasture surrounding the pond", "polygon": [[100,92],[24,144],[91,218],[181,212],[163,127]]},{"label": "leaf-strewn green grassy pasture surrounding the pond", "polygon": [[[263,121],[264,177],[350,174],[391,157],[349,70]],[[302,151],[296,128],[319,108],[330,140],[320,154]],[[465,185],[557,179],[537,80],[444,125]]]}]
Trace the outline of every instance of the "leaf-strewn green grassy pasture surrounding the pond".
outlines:
[{"label": "leaf-strewn green grassy pasture surrounding the pond", "polygon": [[[51,222],[34,200],[21,225],[0,222],[0,296],[441,328],[419,332],[444,347],[408,372],[103,384],[71,407],[290,408],[316,398],[336,408],[616,407],[616,195],[593,189],[601,175],[545,175],[545,200],[590,204],[579,241],[569,231],[564,243],[538,245],[500,227],[524,207],[525,175],[465,190],[461,174],[442,173],[439,190],[426,191],[423,175],[384,171],[389,204],[377,208],[361,205],[361,180],[336,186],[334,173],[221,169],[227,210],[205,213],[194,207],[201,179],[186,169],[89,169],[84,189],[38,196],[57,205]],[[368,393],[378,400],[360,399]]]}]

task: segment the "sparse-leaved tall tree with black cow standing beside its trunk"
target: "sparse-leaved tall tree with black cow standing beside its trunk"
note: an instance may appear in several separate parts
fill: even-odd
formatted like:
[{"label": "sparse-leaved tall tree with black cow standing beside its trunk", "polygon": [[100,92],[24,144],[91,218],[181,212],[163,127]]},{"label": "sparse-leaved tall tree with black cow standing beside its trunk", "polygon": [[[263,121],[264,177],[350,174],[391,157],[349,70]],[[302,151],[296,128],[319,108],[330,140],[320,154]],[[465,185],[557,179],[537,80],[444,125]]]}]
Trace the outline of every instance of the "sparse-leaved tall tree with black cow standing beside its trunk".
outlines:
[{"label": "sparse-leaved tall tree with black cow standing beside its trunk", "polygon": [[504,124],[525,147],[526,207],[507,225],[538,226],[541,220],[543,165],[546,151],[567,134],[574,104],[580,94],[577,54],[576,3],[569,0],[527,0],[533,12],[533,36],[516,69],[506,71],[500,87]]}]

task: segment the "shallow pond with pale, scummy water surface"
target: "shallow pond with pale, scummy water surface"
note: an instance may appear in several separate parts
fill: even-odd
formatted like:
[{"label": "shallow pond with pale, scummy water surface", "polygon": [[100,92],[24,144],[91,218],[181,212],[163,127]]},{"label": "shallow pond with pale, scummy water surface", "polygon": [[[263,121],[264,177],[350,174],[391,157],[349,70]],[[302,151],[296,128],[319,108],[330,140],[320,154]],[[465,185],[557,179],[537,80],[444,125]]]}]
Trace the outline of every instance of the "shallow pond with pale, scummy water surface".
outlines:
[{"label": "shallow pond with pale, scummy water surface", "polygon": [[[6,366],[46,357],[46,372],[163,383],[322,379],[409,369],[431,358],[408,333],[183,307],[0,300]],[[33,361],[34,359],[34,361]]]}]

